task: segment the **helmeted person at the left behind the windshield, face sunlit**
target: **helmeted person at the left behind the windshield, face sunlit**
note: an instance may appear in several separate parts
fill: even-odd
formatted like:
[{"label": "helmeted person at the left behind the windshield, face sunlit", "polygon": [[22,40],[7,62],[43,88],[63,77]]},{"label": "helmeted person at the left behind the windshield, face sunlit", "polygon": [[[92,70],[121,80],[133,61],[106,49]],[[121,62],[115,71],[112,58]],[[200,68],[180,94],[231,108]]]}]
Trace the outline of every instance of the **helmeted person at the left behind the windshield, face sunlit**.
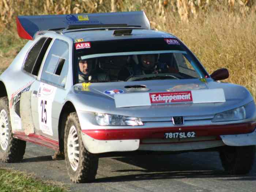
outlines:
[{"label": "helmeted person at the left behind the windshield, face sunlit", "polygon": [[92,61],[91,60],[79,60],[78,79],[79,83],[87,82],[92,79],[91,76]]}]

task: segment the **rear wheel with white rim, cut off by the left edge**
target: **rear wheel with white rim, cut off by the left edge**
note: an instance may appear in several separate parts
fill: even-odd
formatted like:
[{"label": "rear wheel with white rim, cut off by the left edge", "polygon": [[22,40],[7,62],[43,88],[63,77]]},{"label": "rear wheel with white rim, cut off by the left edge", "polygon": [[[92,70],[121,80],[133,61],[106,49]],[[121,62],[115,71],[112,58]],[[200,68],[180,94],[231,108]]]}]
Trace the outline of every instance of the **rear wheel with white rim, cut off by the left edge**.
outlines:
[{"label": "rear wheel with white rim, cut off by the left edge", "polygon": [[0,160],[19,162],[23,159],[26,142],[12,136],[8,98],[0,98]]}]

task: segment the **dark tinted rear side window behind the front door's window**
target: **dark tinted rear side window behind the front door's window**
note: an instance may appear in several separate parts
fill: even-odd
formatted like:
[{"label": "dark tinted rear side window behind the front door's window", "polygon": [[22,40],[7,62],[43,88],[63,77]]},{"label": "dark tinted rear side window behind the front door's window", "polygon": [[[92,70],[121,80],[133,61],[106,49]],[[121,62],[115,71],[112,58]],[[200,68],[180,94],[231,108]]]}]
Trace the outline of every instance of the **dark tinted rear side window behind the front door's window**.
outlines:
[{"label": "dark tinted rear side window behind the front door's window", "polygon": [[42,37],[27,54],[23,69],[33,75],[38,75],[45,52],[52,41],[52,38]]}]

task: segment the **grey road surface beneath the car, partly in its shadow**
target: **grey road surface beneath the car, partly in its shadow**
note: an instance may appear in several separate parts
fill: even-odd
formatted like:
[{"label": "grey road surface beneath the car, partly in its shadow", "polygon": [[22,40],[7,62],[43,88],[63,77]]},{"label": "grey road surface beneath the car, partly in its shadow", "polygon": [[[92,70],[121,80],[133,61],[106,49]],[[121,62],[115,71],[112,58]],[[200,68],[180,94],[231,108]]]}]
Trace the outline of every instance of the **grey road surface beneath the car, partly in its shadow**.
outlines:
[{"label": "grey road surface beneath the car, partly in its shadow", "polygon": [[0,163],[0,166],[26,170],[42,179],[63,182],[71,191],[256,191],[256,166],[246,176],[229,176],[223,172],[215,152],[100,158],[95,182],[85,184],[73,184],[64,160],[53,161],[53,154],[54,151],[48,148],[27,143],[22,162]]}]

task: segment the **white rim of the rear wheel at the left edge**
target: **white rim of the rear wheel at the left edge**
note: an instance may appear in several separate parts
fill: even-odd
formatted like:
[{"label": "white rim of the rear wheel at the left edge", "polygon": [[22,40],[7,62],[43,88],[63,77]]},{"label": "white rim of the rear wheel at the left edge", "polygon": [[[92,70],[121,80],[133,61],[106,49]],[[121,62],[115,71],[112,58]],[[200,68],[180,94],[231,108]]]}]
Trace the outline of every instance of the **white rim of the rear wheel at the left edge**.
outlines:
[{"label": "white rim of the rear wheel at the left edge", "polygon": [[8,116],[4,109],[0,112],[0,146],[2,150],[6,150],[9,140],[9,122]]}]

